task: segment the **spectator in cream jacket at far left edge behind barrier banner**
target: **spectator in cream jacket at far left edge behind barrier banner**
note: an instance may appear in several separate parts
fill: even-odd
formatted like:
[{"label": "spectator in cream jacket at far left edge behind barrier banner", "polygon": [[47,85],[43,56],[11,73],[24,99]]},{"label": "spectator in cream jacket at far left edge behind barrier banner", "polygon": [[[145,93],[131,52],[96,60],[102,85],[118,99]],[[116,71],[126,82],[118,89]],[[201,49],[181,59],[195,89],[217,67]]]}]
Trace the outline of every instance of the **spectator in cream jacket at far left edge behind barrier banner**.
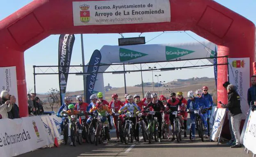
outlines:
[{"label": "spectator in cream jacket at far left edge behind barrier banner", "polygon": [[0,115],[2,115],[2,119],[6,119],[8,118],[7,112],[11,111],[13,99],[12,97],[10,97],[8,91],[2,91],[0,97],[2,98],[2,105],[0,106]]}]

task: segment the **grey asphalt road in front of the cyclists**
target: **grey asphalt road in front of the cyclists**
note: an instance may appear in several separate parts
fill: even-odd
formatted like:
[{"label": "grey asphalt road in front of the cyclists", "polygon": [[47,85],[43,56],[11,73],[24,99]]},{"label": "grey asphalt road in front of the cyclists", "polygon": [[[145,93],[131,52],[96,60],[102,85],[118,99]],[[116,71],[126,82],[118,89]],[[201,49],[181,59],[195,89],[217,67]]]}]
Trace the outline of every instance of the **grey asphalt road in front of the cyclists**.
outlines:
[{"label": "grey asphalt road in front of the cyclists", "polygon": [[162,140],[161,143],[139,142],[138,144],[122,144],[114,142],[115,132],[111,132],[112,139],[107,145],[84,143],[78,146],[60,144],[58,148],[41,148],[17,157],[252,157],[247,154],[245,148],[230,148],[226,144],[210,142],[207,139],[201,142],[199,138],[191,142],[190,139],[183,138],[178,142],[170,142],[169,139]]}]

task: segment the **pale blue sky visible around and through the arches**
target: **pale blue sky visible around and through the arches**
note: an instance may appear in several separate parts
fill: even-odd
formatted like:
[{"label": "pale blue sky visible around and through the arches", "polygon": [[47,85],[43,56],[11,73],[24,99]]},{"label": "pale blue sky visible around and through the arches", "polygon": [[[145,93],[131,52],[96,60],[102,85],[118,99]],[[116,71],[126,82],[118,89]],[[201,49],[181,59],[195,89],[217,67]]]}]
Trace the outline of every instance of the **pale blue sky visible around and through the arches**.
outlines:
[{"label": "pale blue sky visible around and through the arches", "polygon": [[[256,24],[255,8],[256,0],[215,0],[219,4],[239,13],[245,18],[251,20]],[[0,20],[6,18],[11,13],[14,13],[18,9],[22,8],[26,4],[32,2],[32,0],[2,0],[0,5]],[[149,41],[162,32],[142,33],[141,36]],[[124,33],[125,38],[138,37],[140,33]],[[188,31],[186,33],[164,33],[157,38],[147,42],[146,44],[173,44],[173,43],[186,43],[205,41],[204,38]],[[118,38],[121,38],[119,34],[83,34],[84,51],[85,51],[85,64],[90,60],[91,54],[95,49],[100,50],[103,45],[118,45]],[[195,40],[196,39],[196,40]],[[58,40],[59,35],[50,35],[48,38],[42,40],[38,44],[32,46],[25,51],[25,73],[27,90],[34,90],[34,78],[33,78],[33,65],[55,65],[58,64]],[[81,40],[80,34],[75,34],[75,44],[73,46],[73,52],[71,57],[71,65],[82,64],[81,58]],[[183,63],[173,63],[174,66],[182,66]],[[160,64],[165,66],[165,64]],[[148,64],[147,66],[156,66],[160,68],[159,64]],[[116,70],[122,70],[122,68],[115,67]],[[133,66],[127,66],[126,70],[133,70]],[[40,70],[46,71],[46,69],[36,69],[36,72]],[[81,71],[80,69],[71,69],[72,71]],[[112,71],[112,69],[108,69]],[[137,69],[134,69],[137,70]],[[47,73],[53,71],[47,70]],[[213,67],[204,69],[182,69],[171,71],[171,75],[168,72],[154,72],[153,75],[162,75],[159,81],[170,82],[174,79],[187,79],[191,77],[214,77]],[[110,83],[112,87],[123,87],[123,74],[104,74],[104,85]],[[157,77],[154,77],[154,82],[157,82]],[[51,80],[51,81],[46,81]],[[37,75],[36,76],[36,89],[37,93],[46,93],[49,88],[59,89],[58,75]],[[143,72],[143,81],[152,82],[152,72]],[[141,84],[140,73],[126,74],[126,85],[134,86],[135,84]],[[82,76],[69,75],[66,91],[78,91],[83,89]]]}]

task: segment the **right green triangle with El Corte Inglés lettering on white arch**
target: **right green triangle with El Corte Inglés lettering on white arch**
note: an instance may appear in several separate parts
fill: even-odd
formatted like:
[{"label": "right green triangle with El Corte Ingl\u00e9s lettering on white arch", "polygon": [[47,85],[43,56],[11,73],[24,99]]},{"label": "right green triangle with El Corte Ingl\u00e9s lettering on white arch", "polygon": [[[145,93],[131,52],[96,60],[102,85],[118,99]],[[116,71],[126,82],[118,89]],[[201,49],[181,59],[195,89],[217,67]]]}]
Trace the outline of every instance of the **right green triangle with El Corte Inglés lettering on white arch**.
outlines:
[{"label": "right green triangle with El Corte Ingl\u00e9s lettering on white arch", "polygon": [[194,51],[186,50],[186,49],[180,49],[177,47],[170,47],[165,46],[165,56],[166,60],[172,60],[174,58],[182,57],[184,55],[193,53]]}]

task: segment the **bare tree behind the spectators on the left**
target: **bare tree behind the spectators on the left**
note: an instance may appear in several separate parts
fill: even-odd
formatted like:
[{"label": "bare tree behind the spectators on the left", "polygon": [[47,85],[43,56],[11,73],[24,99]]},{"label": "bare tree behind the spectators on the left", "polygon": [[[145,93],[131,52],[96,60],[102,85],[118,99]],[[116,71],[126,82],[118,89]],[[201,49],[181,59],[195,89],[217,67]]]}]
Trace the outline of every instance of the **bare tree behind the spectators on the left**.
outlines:
[{"label": "bare tree behind the spectators on the left", "polygon": [[60,102],[59,91],[57,90],[57,88],[55,89],[50,88],[46,94],[47,94],[46,100],[50,104],[50,107],[52,108],[52,111],[53,111],[54,106],[58,105]]}]

